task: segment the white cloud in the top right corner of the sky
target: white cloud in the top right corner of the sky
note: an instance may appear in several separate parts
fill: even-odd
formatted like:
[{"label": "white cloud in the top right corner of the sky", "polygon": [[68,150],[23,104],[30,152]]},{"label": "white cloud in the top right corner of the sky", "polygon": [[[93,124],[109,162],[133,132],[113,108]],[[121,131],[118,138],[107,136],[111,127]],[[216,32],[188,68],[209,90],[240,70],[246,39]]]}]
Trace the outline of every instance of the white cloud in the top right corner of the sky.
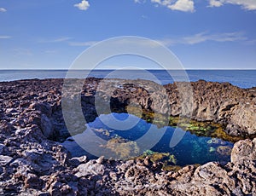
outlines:
[{"label": "white cloud in the top right corner of the sky", "polygon": [[209,0],[211,7],[220,7],[227,3],[240,5],[243,9],[247,10],[256,10],[255,0]]}]

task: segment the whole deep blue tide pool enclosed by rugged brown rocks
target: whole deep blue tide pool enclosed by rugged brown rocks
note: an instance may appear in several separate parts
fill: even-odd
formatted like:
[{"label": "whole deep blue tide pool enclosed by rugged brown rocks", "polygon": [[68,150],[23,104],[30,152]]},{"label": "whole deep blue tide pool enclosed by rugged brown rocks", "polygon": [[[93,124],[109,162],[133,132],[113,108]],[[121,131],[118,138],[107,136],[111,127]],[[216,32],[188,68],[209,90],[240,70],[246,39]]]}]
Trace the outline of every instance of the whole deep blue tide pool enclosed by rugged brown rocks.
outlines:
[{"label": "whole deep blue tide pool enclosed by rugged brown rocks", "polygon": [[[149,156],[168,165],[205,164],[210,161],[226,163],[230,161],[233,147],[230,141],[195,135],[195,129],[190,132],[172,126],[159,128],[127,113],[102,114],[86,126],[84,133],[73,135],[62,143],[73,156],[87,155],[93,159],[108,153],[109,157],[131,159],[140,155],[141,158]],[[170,147],[175,133],[182,137],[178,138],[177,145]],[[76,141],[91,151],[84,151]],[[109,152],[113,154],[109,155]]]}]

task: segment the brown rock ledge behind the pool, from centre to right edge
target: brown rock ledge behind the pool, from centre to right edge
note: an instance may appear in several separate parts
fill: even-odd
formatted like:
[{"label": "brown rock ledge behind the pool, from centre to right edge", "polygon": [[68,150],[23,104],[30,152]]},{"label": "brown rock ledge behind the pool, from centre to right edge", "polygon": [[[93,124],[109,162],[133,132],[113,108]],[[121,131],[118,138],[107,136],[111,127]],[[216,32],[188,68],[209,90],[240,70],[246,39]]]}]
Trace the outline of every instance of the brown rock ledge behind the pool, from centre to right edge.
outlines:
[{"label": "brown rock ledge behind the pool, from centre to right edge", "polygon": [[225,131],[233,136],[256,134],[255,103],[255,88],[240,89],[229,83],[200,80],[161,86],[145,80],[121,79],[95,80],[85,85],[81,102],[89,121],[93,115],[110,112],[109,105],[112,111],[118,112],[135,106],[167,116],[183,115],[197,121],[223,124]]}]

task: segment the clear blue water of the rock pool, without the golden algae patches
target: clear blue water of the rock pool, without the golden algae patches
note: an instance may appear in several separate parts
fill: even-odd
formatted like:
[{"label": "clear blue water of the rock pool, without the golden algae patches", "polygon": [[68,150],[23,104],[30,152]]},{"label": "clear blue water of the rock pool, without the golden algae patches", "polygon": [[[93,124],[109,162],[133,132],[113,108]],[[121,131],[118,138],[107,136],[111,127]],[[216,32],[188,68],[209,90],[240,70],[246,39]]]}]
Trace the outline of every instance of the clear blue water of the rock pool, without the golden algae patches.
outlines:
[{"label": "clear blue water of the rock pool, without the golden algae patches", "polygon": [[[127,121],[128,115],[132,117],[130,122]],[[113,122],[113,118],[117,119],[117,121]],[[136,122],[135,125],[133,122]],[[226,163],[230,161],[230,152],[233,147],[233,143],[230,141],[195,135],[189,131],[176,129],[176,127],[166,126],[158,128],[154,124],[147,123],[145,120],[127,113],[102,114],[99,118],[96,118],[94,122],[87,124],[87,127],[90,127],[90,130],[92,130],[97,137],[102,138],[104,141],[116,140],[113,141],[111,145],[107,146],[102,145],[101,143],[96,144],[97,147],[100,147],[100,151],[102,147],[102,155],[104,155],[104,147],[111,148],[113,153],[120,153],[122,150],[125,152],[129,151],[129,149],[119,149],[113,145],[114,143],[119,143],[122,141],[125,141],[126,143],[131,141],[134,150],[134,144],[136,144],[136,142],[142,138],[143,135],[146,135],[150,128],[154,131],[149,136],[147,142],[155,142],[155,138],[158,137],[160,133],[163,135],[159,140],[157,140],[158,142],[156,142],[153,147],[146,150],[146,153],[168,153],[168,155],[175,159],[175,162],[170,162],[171,164],[205,164],[210,161]],[[117,129],[113,129],[114,127]],[[170,140],[175,131],[180,131],[183,138],[175,147],[170,147]],[[84,151],[84,149],[79,147],[79,145],[75,142],[78,138],[81,139],[86,137],[88,141],[85,142],[87,142],[88,145],[91,145],[92,142],[85,133],[86,130],[82,134],[74,135],[73,138],[68,138],[63,145],[67,147],[73,156],[87,155],[90,158],[96,158],[96,156]],[[73,141],[73,139],[75,141]],[[129,147],[129,145],[125,147]],[[137,147],[140,147],[140,144],[138,144]],[[145,152],[145,149],[143,149],[143,152]],[[140,153],[142,154],[143,152]]]}]

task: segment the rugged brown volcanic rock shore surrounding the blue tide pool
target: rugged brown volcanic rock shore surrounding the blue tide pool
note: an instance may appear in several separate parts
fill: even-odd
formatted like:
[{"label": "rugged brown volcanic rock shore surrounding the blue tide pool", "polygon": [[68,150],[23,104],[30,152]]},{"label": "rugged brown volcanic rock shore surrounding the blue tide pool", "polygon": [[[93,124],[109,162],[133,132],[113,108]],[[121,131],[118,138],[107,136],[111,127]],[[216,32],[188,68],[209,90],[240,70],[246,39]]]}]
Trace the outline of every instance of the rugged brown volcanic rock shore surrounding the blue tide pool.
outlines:
[{"label": "rugged brown volcanic rock shore surrounding the blue tide pool", "polygon": [[[84,83],[81,106],[87,122],[98,115],[94,102],[101,81],[87,78]],[[125,112],[130,102],[137,102],[145,111],[165,112],[163,103],[153,102],[148,89],[142,87],[154,89],[158,84],[117,79],[104,84],[105,89],[113,84],[120,85],[111,97],[104,90],[99,92],[106,104],[109,98],[113,111]],[[191,83],[192,119],[222,124],[228,135],[252,140],[237,141],[228,164],[210,162],[166,171],[161,170],[161,163],[147,158],[72,158],[60,144],[69,136],[61,111],[62,85],[62,79],[0,83],[0,195],[256,195],[255,87],[240,89],[202,80]],[[178,85],[164,86],[172,116],[182,112]],[[72,104],[73,100],[66,101]],[[79,133],[84,124],[73,124],[73,128]]]}]

